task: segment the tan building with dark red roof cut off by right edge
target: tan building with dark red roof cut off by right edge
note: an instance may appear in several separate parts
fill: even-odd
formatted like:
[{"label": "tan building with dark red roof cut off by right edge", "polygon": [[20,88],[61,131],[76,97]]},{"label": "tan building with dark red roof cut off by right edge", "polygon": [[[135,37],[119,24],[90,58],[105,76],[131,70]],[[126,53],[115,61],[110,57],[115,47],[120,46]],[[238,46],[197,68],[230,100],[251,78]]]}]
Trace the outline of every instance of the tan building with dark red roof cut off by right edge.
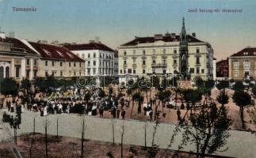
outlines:
[{"label": "tan building with dark red roof cut off by right edge", "polygon": [[229,79],[256,79],[256,47],[246,47],[228,58]]}]

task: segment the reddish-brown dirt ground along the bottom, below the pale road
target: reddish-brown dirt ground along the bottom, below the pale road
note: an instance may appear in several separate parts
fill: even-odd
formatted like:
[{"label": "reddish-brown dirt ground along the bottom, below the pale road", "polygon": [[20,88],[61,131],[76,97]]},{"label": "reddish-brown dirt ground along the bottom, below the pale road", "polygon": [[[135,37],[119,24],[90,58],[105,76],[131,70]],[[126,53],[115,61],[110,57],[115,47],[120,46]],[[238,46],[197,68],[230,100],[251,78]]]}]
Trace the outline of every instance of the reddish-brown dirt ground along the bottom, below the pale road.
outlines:
[{"label": "reddish-brown dirt ground along the bottom, below the pale road", "polygon": [[[32,158],[44,158],[45,156],[45,145],[44,145],[44,134],[35,135],[23,135],[18,137],[17,148],[21,152],[24,158],[29,158],[29,148],[31,140],[34,139],[31,148]],[[120,145],[112,145],[102,141],[88,141],[84,142],[84,157],[90,158],[107,158],[107,153],[111,152],[114,158],[120,158]],[[12,152],[10,151],[10,143],[2,143],[0,145],[0,157],[12,158]],[[149,148],[146,150],[140,146],[124,145],[124,158],[147,158]],[[161,157],[164,149],[158,149],[156,157]],[[71,137],[59,137],[48,136],[48,158],[76,158],[81,156],[81,141],[77,138]],[[196,157],[194,153],[189,152],[175,152],[167,150],[164,157],[182,157],[182,158],[193,158]],[[216,157],[216,156],[207,156]],[[219,156],[220,157],[220,156]]]}]

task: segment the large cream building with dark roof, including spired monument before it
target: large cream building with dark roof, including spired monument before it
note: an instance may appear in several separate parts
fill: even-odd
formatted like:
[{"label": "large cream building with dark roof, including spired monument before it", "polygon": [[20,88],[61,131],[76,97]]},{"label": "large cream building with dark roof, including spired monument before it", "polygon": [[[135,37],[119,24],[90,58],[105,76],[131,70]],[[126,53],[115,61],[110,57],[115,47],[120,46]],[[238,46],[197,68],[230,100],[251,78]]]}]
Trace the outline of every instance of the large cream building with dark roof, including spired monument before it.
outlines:
[{"label": "large cream building with dark roof, including spired monument before it", "polygon": [[182,79],[213,77],[213,50],[209,43],[185,32],[137,37],[118,47],[120,80],[127,74],[136,77],[178,72]]}]

